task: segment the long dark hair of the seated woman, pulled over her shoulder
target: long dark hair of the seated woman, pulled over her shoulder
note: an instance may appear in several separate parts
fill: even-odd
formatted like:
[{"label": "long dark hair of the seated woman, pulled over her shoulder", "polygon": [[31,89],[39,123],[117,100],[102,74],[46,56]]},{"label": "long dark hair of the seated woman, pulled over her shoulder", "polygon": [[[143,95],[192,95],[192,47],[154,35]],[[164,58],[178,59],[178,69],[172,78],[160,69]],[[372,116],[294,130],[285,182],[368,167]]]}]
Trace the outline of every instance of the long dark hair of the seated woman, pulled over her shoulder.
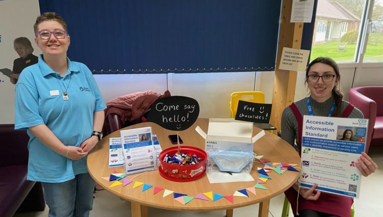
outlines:
[{"label": "long dark hair of the seated woman, pulled over her shoulder", "polygon": [[317,59],[313,60],[312,62],[310,62],[310,64],[308,64],[307,66],[307,69],[306,69],[306,83],[307,83],[307,75],[308,75],[308,72],[310,71],[310,68],[312,65],[314,65],[315,63],[323,63],[323,64],[326,64],[326,65],[329,65],[331,66],[334,71],[335,71],[335,74],[337,75],[337,77],[335,79],[338,80],[338,83],[337,85],[335,85],[333,88],[332,88],[332,96],[334,98],[334,102],[335,102],[335,109],[334,109],[334,112],[331,114],[332,117],[340,117],[342,115],[342,100],[343,100],[343,93],[342,91],[340,90],[339,88],[339,81],[341,80],[341,74],[339,73],[339,67],[337,65],[337,63],[331,59],[331,58],[328,58],[328,57],[318,57]]}]

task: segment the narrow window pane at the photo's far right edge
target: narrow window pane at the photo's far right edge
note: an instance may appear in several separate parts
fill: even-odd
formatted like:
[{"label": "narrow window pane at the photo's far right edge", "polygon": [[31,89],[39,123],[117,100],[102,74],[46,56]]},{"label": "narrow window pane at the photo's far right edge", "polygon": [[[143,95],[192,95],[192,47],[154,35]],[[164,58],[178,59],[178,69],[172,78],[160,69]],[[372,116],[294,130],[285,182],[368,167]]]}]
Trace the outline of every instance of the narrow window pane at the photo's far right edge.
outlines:
[{"label": "narrow window pane at the photo's far right edge", "polygon": [[383,61],[383,0],[375,0],[363,62]]}]

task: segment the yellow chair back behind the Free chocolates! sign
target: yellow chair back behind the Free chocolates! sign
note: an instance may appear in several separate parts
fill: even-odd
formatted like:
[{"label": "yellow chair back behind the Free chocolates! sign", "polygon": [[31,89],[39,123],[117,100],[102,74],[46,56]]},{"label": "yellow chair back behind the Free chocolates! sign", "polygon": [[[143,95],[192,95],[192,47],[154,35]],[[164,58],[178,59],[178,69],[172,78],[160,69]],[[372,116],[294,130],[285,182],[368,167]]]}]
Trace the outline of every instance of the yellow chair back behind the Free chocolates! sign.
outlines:
[{"label": "yellow chair back behind the Free chocolates! sign", "polygon": [[232,92],[230,95],[230,117],[235,118],[238,101],[251,103],[265,103],[265,94],[262,91]]}]

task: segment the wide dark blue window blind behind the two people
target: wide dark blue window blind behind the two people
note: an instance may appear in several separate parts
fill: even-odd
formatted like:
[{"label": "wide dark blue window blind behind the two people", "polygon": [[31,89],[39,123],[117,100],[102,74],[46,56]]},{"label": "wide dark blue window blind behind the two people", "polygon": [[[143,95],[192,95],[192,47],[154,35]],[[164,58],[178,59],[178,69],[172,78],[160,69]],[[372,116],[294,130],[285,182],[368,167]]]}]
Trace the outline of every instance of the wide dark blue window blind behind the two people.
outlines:
[{"label": "wide dark blue window blind behind the two people", "polygon": [[280,0],[39,0],[94,74],[272,71]]}]

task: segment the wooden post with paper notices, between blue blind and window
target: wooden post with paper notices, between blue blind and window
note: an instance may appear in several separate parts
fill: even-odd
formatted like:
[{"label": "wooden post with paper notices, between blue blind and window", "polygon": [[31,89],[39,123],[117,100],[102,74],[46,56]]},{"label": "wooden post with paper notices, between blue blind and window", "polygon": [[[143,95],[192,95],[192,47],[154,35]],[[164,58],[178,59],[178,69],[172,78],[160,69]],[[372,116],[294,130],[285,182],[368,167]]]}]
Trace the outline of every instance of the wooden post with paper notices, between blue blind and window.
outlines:
[{"label": "wooden post with paper notices, between blue blind and window", "polygon": [[[281,11],[281,23],[279,26],[277,62],[274,77],[274,89],[270,123],[280,130],[282,111],[286,106],[294,102],[297,71],[280,70],[283,47],[293,49],[301,48],[303,23],[290,22],[293,1],[283,0]],[[277,133],[276,131],[274,133]]]}]

